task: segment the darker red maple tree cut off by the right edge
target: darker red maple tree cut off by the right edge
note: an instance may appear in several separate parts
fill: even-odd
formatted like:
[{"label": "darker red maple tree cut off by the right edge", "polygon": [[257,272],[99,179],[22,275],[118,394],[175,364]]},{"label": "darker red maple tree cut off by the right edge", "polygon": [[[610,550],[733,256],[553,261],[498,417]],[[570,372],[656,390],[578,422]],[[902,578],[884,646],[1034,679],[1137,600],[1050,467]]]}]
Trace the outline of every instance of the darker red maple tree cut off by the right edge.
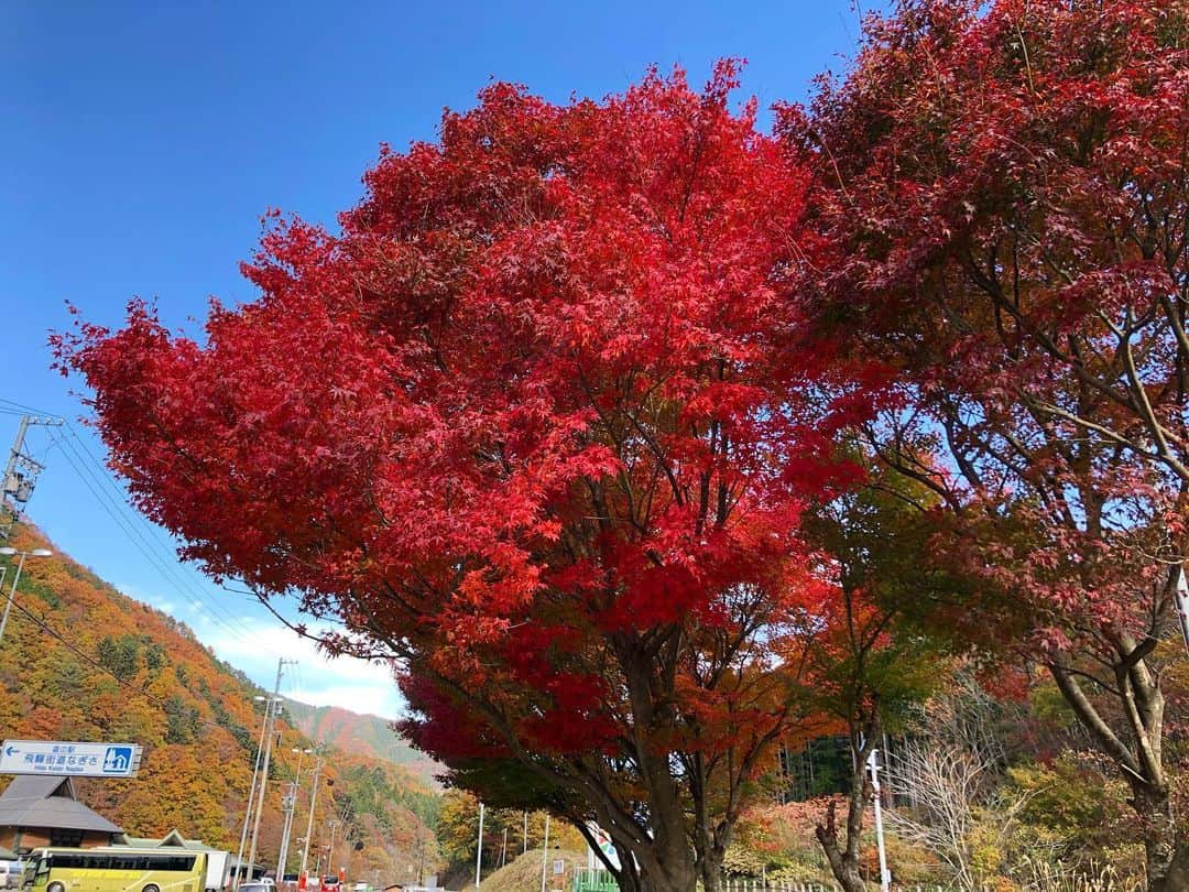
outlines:
[{"label": "darker red maple tree cut off by the right edge", "polygon": [[950,509],[969,629],[1046,666],[1130,784],[1152,890],[1189,885],[1160,648],[1189,509],[1187,71],[1177,0],[912,0],[784,121],[833,252],[806,293],[904,370],[869,439]]}]

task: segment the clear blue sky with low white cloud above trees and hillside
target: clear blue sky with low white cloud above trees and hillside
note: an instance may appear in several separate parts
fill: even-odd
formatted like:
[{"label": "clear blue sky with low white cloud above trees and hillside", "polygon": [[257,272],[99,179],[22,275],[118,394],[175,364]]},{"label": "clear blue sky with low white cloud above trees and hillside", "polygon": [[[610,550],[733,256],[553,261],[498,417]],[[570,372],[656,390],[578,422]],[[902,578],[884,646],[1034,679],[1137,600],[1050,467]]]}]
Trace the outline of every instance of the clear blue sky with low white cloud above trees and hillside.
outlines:
[{"label": "clear blue sky with low white cloud above trees and hillside", "polygon": [[[441,109],[470,107],[492,78],[564,101],[622,90],[652,63],[702,83],[716,58],[742,56],[743,94],[767,106],[843,70],[858,19],[847,0],[0,0],[0,397],[76,421],[80,384],[49,370],[45,348],[48,331],[69,325],[67,301],[118,325],[130,297],[155,299],[168,325],[195,332],[210,295],[254,296],[238,263],[268,208],[332,225],[379,143],[432,139]],[[2,453],[18,420],[5,406]],[[327,665],[246,598],[162,567],[162,540],[117,523],[87,485],[81,444],[38,431],[30,445],[48,466],[30,516],[74,558],[260,683],[278,654],[297,655],[288,693],[400,710],[382,670]]]}]

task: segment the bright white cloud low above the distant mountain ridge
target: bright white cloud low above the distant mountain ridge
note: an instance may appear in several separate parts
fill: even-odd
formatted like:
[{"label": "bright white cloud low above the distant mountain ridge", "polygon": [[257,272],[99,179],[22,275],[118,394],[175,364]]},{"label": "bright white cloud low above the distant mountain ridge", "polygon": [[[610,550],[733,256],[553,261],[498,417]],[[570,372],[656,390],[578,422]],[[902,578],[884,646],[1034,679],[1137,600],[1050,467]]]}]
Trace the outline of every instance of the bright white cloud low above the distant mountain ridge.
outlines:
[{"label": "bright white cloud low above the distant mountain ridge", "polygon": [[220,659],[266,690],[276,683],[279,658],[297,660],[296,668],[285,667],[281,681],[281,693],[295,701],[315,706],[341,706],[384,718],[397,718],[404,711],[404,702],[388,666],[353,657],[329,659],[314,641],[276,621],[243,620],[235,634],[222,626],[212,627],[202,640]]}]

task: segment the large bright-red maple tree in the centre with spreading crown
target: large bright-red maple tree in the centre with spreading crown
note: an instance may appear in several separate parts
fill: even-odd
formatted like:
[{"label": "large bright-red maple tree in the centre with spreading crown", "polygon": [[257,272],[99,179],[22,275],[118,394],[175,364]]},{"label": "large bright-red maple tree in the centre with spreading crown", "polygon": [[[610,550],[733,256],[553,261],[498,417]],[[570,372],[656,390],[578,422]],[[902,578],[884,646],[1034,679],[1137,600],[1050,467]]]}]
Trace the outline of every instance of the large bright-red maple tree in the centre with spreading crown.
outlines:
[{"label": "large bright-red maple tree in the centre with spreading crown", "polygon": [[735,80],[491,86],[385,149],[341,232],[276,219],[205,344],[140,303],[58,339],[187,557],[400,658],[419,742],[580,803],[625,890],[717,888],[806,721],[772,653],[822,597],[801,505],[853,476],[831,438],[868,403],[789,346],[806,176]]}]

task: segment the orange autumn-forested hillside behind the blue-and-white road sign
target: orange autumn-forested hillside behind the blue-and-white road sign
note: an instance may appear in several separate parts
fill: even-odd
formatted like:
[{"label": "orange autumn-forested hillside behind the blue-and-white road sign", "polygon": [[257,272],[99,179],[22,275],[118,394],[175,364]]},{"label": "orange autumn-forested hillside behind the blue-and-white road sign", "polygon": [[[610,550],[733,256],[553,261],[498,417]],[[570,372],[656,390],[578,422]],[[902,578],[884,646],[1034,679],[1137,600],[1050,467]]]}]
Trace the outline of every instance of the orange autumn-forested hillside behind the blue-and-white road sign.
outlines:
[{"label": "orange autumn-forested hillside behind the blue-and-white road sign", "polygon": [[[12,545],[52,547],[30,527],[17,527]],[[234,852],[262,728],[253,701],[260,689],[216,659],[184,624],[55,552],[25,564],[0,642],[0,736],[140,743],[144,760],[136,779],[82,781],[81,798],[130,834],[159,836],[177,828],[187,837]],[[6,558],[0,566],[8,567],[7,591],[14,567]],[[312,747],[317,740],[298,730],[301,722],[291,716],[321,711],[287,706],[260,825],[260,860],[269,865],[276,863],[279,849],[282,792],[297,767],[291,748]],[[371,721],[334,712],[341,714],[335,727]],[[345,842],[341,828],[336,836],[335,867],[346,866],[350,874],[370,881],[432,871],[436,792],[395,760],[377,759],[382,753],[340,749],[341,737],[323,742],[328,747],[315,847],[329,842],[328,821],[346,815]],[[310,767],[307,756],[294,837],[304,833]],[[0,779],[0,785],[6,783]],[[291,853],[289,869],[296,869],[296,842]]]}]

